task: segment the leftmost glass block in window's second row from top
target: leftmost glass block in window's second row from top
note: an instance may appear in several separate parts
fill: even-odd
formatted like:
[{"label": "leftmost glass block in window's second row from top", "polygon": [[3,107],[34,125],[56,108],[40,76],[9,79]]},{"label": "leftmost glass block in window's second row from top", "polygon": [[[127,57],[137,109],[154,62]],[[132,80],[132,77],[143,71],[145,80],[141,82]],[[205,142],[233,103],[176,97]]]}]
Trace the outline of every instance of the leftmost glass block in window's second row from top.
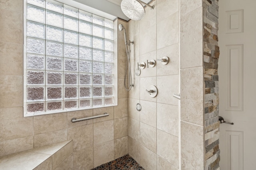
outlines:
[{"label": "leftmost glass block in window's second row from top", "polygon": [[27,5],[27,20],[44,23],[44,9]]}]

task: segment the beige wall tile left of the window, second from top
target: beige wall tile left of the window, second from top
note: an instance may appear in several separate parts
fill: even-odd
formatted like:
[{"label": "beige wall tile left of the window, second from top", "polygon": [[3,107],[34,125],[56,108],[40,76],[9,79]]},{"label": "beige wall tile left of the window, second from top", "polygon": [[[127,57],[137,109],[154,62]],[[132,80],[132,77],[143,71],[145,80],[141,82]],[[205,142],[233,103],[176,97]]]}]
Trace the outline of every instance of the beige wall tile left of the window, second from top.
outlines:
[{"label": "beige wall tile left of the window, second from top", "polygon": [[23,44],[22,12],[1,9],[0,16],[0,40],[2,42]]}]

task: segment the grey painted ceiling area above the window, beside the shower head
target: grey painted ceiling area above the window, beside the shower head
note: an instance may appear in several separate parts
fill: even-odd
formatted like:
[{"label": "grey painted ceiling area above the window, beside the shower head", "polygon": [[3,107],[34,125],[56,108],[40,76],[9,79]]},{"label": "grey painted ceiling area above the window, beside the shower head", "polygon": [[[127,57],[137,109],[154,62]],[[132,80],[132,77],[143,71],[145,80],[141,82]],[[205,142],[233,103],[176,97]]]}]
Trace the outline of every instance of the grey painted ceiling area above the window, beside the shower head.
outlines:
[{"label": "grey painted ceiling area above the window, beside the shower head", "polygon": [[[130,20],[130,18],[126,17],[121,10],[120,4],[122,0],[74,0],[96,10],[100,10],[102,12],[106,12],[113,16],[113,19],[118,17],[123,20]],[[141,0],[145,3],[150,2],[151,0]],[[112,18],[110,18],[112,19]]]}]

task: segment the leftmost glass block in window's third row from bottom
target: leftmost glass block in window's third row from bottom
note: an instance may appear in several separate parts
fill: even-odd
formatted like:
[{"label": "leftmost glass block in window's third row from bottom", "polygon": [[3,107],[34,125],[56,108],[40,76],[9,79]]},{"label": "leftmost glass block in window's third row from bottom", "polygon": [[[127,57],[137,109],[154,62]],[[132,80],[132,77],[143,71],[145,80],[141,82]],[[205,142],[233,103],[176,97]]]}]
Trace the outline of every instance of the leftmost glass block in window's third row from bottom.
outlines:
[{"label": "leftmost glass block in window's third row from bottom", "polygon": [[44,72],[28,71],[27,84],[44,84]]}]

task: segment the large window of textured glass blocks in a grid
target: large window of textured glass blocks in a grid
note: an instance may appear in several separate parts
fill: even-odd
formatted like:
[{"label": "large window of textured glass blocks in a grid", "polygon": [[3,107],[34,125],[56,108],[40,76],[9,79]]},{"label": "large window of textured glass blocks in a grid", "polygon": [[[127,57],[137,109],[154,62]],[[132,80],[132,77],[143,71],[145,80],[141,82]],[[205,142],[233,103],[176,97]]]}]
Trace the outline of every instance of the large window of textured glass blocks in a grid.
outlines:
[{"label": "large window of textured glass blocks in a grid", "polygon": [[26,11],[24,112],[113,105],[113,21],[53,0]]}]

